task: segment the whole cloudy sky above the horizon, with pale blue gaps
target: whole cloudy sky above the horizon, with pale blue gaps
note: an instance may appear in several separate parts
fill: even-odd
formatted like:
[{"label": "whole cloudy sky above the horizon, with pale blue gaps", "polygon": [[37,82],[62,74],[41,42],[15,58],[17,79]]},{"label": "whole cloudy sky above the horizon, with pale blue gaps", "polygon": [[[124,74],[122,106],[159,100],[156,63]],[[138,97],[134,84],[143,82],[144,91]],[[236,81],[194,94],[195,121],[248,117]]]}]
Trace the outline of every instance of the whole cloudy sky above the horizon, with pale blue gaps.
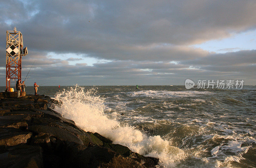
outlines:
[{"label": "whole cloudy sky above the horizon, with pale blue gaps", "polygon": [[27,85],[256,84],[255,0],[1,0],[0,86],[14,26]]}]

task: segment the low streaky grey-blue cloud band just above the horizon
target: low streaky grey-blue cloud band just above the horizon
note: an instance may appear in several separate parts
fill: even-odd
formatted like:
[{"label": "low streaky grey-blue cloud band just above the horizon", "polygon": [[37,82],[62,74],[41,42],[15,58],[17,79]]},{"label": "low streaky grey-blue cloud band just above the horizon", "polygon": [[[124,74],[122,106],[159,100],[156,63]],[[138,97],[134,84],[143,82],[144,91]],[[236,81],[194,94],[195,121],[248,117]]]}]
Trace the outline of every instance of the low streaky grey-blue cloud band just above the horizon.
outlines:
[{"label": "low streaky grey-blue cloud band just above the horizon", "polygon": [[[35,55],[39,55],[34,53]],[[236,55],[236,53],[233,53]],[[232,55],[228,53],[227,55]],[[154,62],[154,61],[110,61],[107,63],[95,63],[93,66],[87,66],[86,63],[77,63],[76,65],[68,65],[60,59],[51,59],[46,55],[39,55],[38,59],[45,60],[42,65],[33,66],[31,69],[33,81],[50,80],[57,85],[61,80],[72,85],[75,81],[80,81],[85,85],[110,85],[110,84],[132,84],[131,81],[145,81],[147,84],[157,84],[157,82],[185,81],[190,79],[251,79],[255,73],[255,65],[201,65],[183,64],[171,62]],[[223,55],[225,57],[225,54]],[[50,62],[49,64],[47,62]],[[26,62],[26,60],[24,60]],[[40,62],[40,61],[39,61]],[[29,70],[33,60],[29,60],[23,69],[23,72]],[[211,62],[208,62],[209,64]],[[227,61],[228,63],[228,61]],[[25,63],[24,63],[25,64]],[[206,64],[206,63],[205,63]],[[3,69],[4,74],[5,69]],[[189,74],[189,75],[188,75]],[[23,73],[23,76],[26,73]],[[68,81],[67,81],[68,79]],[[111,83],[115,81],[115,83]],[[97,83],[97,82],[98,83]],[[100,83],[101,81],[101,83]],[[102,83],[102,81],[104,81]],[[94,83],[96,82],[96,83]],[[119,82],[119,83],[118,83]],[[130,82],[130,83],[129,83]],[[41,82],[44,83],[44,82]],[[170,84],[174,84],[170,83]],[[32,85],[33,83],[31,83]],[[145,83],[144,83],[145,84]],[[179,84],[179,83],[176,83]]]}]

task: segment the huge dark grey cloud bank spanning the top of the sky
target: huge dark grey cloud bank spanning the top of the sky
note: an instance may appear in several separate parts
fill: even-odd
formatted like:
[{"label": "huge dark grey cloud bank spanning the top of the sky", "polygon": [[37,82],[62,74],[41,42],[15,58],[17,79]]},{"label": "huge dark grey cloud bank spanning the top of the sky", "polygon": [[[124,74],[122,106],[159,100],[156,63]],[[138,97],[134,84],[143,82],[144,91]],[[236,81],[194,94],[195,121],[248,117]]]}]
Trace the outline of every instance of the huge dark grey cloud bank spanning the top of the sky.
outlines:
[{"label": "huge dark grey cloud bank spanning the top of the sky", "polygon": [[[177,60],[179,54],[184,60],[190,57],[189,52],[192,57],[204,55],[175,45],[220,39],[230,32],[253,29],[256,24],[254,1],[17,3],[16,11],[9,2],[2,2],[7,8],[1,12],[1,32],[15,25],[26,35],[24,43],[31,49],[114,60]],[[12,24],[6,26],[6,19]],[[174,46],[147,48],[153,44]],[[146,48],[139,50],[140,46]]]}]

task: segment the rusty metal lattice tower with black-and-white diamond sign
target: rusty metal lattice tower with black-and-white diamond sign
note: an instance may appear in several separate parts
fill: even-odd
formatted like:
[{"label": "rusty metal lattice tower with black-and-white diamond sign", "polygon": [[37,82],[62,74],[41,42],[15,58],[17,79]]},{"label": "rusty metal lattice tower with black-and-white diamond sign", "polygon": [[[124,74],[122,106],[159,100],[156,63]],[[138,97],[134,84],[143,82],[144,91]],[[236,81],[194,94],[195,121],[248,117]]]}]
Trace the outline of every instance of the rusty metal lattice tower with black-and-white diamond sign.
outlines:
[{"label": "rusty metal lattice tower with black-and-white diamond sign", "polygon": [[23,49],[21,32],[6,31],[6,90],[15,88],[16,80],[21,80],[21,58],[28,54],[27,47]]}]

